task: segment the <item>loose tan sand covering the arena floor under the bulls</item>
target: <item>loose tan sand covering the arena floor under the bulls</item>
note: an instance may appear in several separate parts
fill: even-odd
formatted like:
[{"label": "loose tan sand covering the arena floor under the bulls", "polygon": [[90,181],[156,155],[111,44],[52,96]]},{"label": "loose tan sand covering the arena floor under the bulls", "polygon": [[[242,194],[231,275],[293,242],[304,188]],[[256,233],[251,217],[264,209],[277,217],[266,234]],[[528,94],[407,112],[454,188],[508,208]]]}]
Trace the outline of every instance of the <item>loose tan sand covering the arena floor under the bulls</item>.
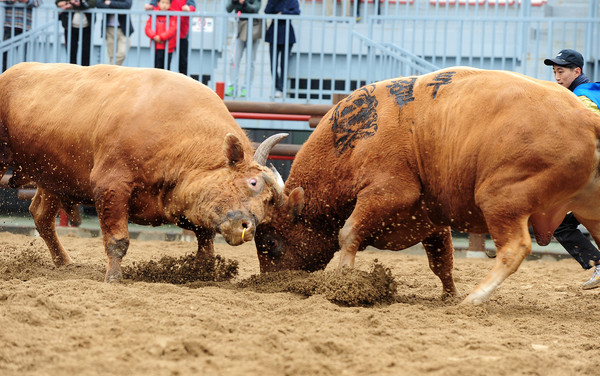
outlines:
[{"label": "loose tan sand covering the arena floor under the bulls", "polygon": [[[600,289],[573,260],[526,261],[484,306],[442,301],[426,257],[366,251],[397,282],[392,304],[264,293],[254,245],[217,244],[230,282],[103,282],[99,238],[63,236],[76,266],[55,269],[40,238],[0,233],[1,375],[599,375]],[[124,265],[182,256],[188,242],[132,240]],[[328,269],[335,266],[336,259]],[[468,293],[494,261],[457,258]]]}]

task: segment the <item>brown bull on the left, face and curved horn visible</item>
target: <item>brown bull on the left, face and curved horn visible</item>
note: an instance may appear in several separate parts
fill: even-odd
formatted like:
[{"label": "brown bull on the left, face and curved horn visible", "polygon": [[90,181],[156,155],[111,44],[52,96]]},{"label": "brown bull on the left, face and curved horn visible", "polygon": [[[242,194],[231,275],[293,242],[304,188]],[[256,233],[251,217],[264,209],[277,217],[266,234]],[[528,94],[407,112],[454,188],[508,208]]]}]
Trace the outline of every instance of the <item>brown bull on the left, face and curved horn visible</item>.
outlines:
[{"label": "brown bull on the left, face and curved horn visible", "polygon": [[216,232],[231,245],[252,240],[282,198],[264,164],[285,134],[254,153],[223,101],[180,74],[22,63],[0,75],[0,121],[0,176],[13,167],[13,185],[37,184],[30,212],[54,263],[72,262],[59,208],[93,204],[107,282],[122,279],[128,221],[189,229],[202,257]]}]

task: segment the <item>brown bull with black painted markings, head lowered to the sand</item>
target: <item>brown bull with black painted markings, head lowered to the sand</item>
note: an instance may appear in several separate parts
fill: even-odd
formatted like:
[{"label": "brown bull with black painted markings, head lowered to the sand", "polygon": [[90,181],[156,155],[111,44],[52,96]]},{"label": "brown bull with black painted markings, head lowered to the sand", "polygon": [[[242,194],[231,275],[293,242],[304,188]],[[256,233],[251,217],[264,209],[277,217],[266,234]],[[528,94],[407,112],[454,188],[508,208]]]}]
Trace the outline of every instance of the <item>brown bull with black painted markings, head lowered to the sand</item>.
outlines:
[{"label": "brown bull with black painted markings, head lowered to the sand", "polygon": [[421,242],[455,295],[450,229],[489,232],[497,259],[481,303],[573,211],[600,241],[600,117],[571,92],[456,67],[367,85],[335,106],[296,156],[286,204],[257,229],[261,271],[340,267],[372,245]]}]

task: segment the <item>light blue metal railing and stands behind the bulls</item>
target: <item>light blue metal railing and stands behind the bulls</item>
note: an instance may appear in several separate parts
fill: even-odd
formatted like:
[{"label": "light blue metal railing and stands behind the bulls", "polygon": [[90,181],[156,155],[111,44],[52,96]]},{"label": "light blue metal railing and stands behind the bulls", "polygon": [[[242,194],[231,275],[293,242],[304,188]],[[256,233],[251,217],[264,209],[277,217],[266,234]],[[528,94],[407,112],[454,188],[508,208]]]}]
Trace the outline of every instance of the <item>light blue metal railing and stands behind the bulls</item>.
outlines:
[{"label": "light blue metal railing and stands behind the bulls", "polygon": [[[584,71],[600,81],[598,0],[573,0],[569,11],[577,8],[583,16],[566,13],[568,17],[556,17],[557,8],[545,0],[457,1],[459,5],[452,5],[456,4],[452,0],[346,2],[352,4],[350,16],[342,9],[345,3],[334,1],[334,15],[328,16],[322,2],[301,0],[301,15],[248,15],[250,22],[260,21],[262,34],[248,41],[259,47],[256,56],[251,56],[252,48],[245,50],[239,82],[248,90],[244,98],[235,99],[330,104],[336,94],[347,94],[366,83],[452,65],[506,69],[552,80],[543,59],[563,48],[582,52],[587,62]],[[31,30],[0,42],[9,66],[25,60],[69,61],[66,45],[70,41],[58,21],[59,11],[52,3],[35,8]],[[183,73],[213,88],[216,82],[233,81],[237,16],[225,13],[222,0],[198,2],[194,13],[148,12],[140,0],[134,0],[131,10],[95,8],[89,12],[94,15],[90,64],[108,62],[110,47],[103,37],[107,14],[130,16],[135,31],[124,65],[136,67],[154,66],[154,46],[144,33],[149,17],[177,17],[178,26],[182,17],[190,17],[189,66]],[[274,75],[264,42],[268,26],[276,20],[292,24],[298,39],[285,47],[289,56],[283,98],[274,97]],[[171,70],[178,70],[179,49],[178,44]],[[81,53],[78,63],[80,57]],[[247,61],[255,61],[252,80]]]}]

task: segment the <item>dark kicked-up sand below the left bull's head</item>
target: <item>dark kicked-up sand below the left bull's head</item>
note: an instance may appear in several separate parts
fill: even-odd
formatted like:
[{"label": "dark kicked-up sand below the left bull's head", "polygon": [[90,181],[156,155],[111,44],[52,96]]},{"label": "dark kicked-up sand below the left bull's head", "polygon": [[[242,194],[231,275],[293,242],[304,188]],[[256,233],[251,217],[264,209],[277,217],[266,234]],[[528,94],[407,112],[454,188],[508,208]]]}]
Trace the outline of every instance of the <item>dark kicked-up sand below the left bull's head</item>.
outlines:
[{"label": "dark kicked-up sand below the left bull's head", "polygon": [[191,282],[223,282],[238,275],[238,262],[222,256],[197,260],[195,254],[181,257],[163,256],[158,261],[134,262],[123,268],[123,277],[142,282],[186,284]]}]

